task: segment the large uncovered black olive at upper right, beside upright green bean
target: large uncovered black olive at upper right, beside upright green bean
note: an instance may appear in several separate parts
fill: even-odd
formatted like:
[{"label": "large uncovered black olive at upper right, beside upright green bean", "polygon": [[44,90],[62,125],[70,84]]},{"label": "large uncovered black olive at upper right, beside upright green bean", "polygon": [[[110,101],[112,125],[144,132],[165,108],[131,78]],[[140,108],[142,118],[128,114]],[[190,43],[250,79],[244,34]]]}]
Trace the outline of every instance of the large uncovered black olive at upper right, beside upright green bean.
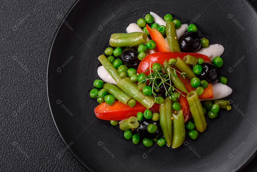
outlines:
[{"label": "large uncovered black olive at upper right, beside upright green bean", "polygon": [[194,53],[201,47],[201,39],[196,32],[186,32],[178,40],[182,52]]}]

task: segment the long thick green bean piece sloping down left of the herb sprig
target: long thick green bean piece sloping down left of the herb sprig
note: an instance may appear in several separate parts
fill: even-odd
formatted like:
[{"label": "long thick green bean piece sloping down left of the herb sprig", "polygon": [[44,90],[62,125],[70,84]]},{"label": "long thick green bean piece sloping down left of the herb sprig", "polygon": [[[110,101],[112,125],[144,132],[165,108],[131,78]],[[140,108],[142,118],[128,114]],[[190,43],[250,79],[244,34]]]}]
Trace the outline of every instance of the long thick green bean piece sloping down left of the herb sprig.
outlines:
[{"label": "long thick green bean piece sloping down left of the herb sprig", "polygon": [[154,105],[153,98],[144,95],[144,93],[138,90],[138,86],[135,82],[132,82],[130,78],[124,78],[117,82],[117,86],[120,87],[125,93],[133,97],[136,101],[140,102],[144,107],[149,109]]}]

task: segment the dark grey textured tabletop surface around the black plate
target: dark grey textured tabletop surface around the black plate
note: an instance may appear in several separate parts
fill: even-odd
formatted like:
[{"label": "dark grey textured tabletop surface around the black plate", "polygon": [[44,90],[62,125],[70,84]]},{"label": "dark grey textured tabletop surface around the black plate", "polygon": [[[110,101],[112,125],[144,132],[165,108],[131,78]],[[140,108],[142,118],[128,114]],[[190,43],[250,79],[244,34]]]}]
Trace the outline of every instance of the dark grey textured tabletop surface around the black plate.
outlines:
[{"label": "dark grey textured tabletop surface around the black plate", "polygon": [[[86,171],[62,142],[46,91],[52,38],[74,2],[0,0],[0,171]],[[257,157],[246,171],[257,171]]]}]

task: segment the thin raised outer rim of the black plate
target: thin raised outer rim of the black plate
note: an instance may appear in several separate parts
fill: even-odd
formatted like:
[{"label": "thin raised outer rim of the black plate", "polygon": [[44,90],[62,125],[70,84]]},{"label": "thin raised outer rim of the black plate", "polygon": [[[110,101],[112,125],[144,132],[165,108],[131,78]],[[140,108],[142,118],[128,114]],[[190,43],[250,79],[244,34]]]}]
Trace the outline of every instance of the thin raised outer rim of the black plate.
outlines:
[{"label": "thin raised outer rim of the black plate", "polygon": [[[69,10],[66,12],[66,14],[64,15],[63,17],[63,20],[66,20],[68,18],[68,16],[70,15],[71,12],[73,12],[73,10],[75,9],[75,7],[77,6],[77,4],[82,1],[82,0],[76,0],[72,5],[71,7],[69,8]],[[254,4],[250,1],[250,0],[246,0],[246,2],[250,5],[250,7],[252,7],[255,11],[255,13],[257,14],[257,6],[254,6]],[[48,82],[48,79],[49,79],[49,65],[50,65],[50,58],[51,58],[51,54],[52,54],[52,49],[53,49],[53,46],[54,46],[54,43],[56,41],[56,38],[59,34],[59,31],[60,29],[62,28],[63,26],[63,22],[60,22],[55,33],[54,33],[54,37],[51,41],[51,46],[50,46],[50,49],[48,51],[48,63],[47,63],[47,77],[46,77],[46,86],[47,86],[47,98],[48,98],[48,105],[49,105],[49,108],[50,108],[50,112],[51,112],[51,116],[52,116],[52,119],[53,119],[53,122],[54,122],[54,125],[56,126],[56,129],[63,141],[63,143],[66,145],[66,147],[68,148],[68,150],[71,152],[72,156],[80,163],[80,165],[85,169],[85,170],[89,170],[89,171],[92,171],[92,168],[86,164],[84,161],[82,161],[78,156],[77,154],[68,146],[68,143],[67,141],[63,138],[63,136],[61,135],[60,133],[60,130],[59,130],[59,127],[57,126],[57,123],[56,123],[56,120],[54,118],[54,115],[53,115],[53,110],[52,110],[52,106],[51,106],[51,100],[50,100],[50,92],[49,92],[49,82]],[[247,161],[241,166],[239,167],[238,169],[236,169],[235,172],[240,172],[242,171],[255,157],[257,156],[257,145],[255,147],[255,150],[253,151],[253,153],[250,155],[250,158],[247,159]]]}]

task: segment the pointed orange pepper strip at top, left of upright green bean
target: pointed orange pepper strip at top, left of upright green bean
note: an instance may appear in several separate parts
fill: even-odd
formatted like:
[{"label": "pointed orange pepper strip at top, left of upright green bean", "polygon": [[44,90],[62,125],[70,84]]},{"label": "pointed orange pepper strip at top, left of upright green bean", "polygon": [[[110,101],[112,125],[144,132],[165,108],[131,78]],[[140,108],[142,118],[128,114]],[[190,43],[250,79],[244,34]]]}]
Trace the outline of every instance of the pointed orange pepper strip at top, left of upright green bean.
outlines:
[{"label": "pointed orange pepper strip at top, left of upright green bean", "polygon": [[162,34],[154,28],[150,28],[148,24],[146,24],[146,29],[151,35],[152,40],[156,43],[156,51],[157,52],[170,52],[169,44],[165,41]]}]

